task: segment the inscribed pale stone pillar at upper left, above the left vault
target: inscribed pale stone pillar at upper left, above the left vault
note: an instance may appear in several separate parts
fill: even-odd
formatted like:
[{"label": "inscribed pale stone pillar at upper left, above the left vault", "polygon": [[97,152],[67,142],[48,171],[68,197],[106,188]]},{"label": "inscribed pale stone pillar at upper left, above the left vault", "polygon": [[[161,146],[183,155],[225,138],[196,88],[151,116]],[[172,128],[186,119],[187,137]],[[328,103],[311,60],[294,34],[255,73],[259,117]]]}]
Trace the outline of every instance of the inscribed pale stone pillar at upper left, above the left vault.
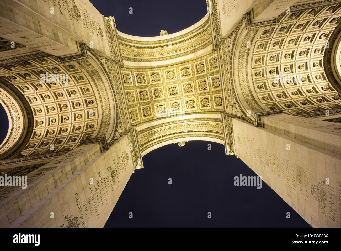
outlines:
[{"label": "inscribed pale stone pillar at upper left, above the left vault", "polygon": [[0,23],[1,38],[51,55],[82,54],[84,43],[113,56],[106,21],[88,0],[0,1]]}]

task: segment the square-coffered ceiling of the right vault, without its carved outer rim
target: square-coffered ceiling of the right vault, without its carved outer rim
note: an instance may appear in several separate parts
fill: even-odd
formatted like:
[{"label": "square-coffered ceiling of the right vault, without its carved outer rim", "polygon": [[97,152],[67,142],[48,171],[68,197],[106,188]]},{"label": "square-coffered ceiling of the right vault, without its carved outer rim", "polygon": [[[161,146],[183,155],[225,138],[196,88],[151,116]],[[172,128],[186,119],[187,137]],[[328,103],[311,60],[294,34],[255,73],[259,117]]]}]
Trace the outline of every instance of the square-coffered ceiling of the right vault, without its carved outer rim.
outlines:
[{"label": "square-coffered ceiling of the right vault, without its carved outer rim", "polygon": [[302,115],[341,108],[323,65],[340,16],[340,5],[293,11],[257,31],[249,56],[250,86],[265,110]]}]

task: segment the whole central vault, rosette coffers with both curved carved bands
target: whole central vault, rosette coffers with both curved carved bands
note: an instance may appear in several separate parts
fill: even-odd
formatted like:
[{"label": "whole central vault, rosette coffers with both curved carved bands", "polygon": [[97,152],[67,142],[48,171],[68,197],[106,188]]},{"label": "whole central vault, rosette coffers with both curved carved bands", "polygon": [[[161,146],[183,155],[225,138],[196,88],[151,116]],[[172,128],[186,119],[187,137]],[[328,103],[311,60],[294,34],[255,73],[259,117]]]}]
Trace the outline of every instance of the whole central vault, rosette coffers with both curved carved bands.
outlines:
[{"label": "whole central vault, rosette coffers with both curved carved bands", "polygon": [[169,143],[224,143],[222,78],[208,15],[182,31],[136,37],[118,31],[121,78],[143,155]]}]

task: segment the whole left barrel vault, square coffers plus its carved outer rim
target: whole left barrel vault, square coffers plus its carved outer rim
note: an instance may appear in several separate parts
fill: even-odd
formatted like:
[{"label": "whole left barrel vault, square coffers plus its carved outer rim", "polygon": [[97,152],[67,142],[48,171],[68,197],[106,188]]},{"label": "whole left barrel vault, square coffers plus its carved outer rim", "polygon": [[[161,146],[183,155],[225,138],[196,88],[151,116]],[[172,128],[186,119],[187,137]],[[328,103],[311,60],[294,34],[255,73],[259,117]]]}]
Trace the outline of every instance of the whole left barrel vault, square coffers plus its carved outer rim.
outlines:
[{"label": "whole left barrel vault, square coffers plus its carved outer rim", "polygon": [[12,96],[20,97],[17,103],[26,108],[20,121],[27,127],[25,140],[16,139],[20,148],[11,147],[12,154],[1,154],[1,158],[59,156],[81,140],[115,137],[115,90],[99,57],[93,52],[88,55],[67,62],[45,56],[0,66],[1,82],[11,86],[17,93]]}]

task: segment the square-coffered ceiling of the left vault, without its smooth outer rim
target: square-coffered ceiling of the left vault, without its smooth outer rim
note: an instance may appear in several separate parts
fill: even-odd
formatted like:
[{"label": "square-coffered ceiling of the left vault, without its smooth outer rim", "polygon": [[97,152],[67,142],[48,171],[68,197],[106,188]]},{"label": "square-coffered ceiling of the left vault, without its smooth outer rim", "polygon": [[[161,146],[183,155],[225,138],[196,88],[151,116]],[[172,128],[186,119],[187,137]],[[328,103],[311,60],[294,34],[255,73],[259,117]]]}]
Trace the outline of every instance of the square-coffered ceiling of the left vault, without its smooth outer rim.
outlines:
[{"label": "square-coffered ceiling of the left vault, without its smooth outer rim", "polygon": [[[68,83],[41,81],[46,72],[67,76]],[[2,81],[24,95],[34,116],[33,133],[17,157],[68,151],[97,134],[97,90],[85,72],[76,62],[60,64],[54,56],[0,66]]]}]

